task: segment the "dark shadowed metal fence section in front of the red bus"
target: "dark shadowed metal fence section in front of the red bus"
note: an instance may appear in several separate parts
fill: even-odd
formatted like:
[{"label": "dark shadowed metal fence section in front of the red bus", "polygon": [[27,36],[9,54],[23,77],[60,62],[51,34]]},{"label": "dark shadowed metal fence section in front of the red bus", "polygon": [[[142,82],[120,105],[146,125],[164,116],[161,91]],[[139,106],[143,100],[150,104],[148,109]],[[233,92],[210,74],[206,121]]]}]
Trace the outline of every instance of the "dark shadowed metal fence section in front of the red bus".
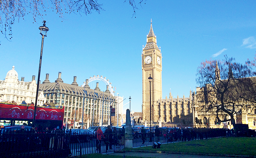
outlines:
[{"label": "dark shadowed metal fence section in front of the red bus", "polygon": [[1,158],[66,158],[71,154],[68,134],[1,134]]}]

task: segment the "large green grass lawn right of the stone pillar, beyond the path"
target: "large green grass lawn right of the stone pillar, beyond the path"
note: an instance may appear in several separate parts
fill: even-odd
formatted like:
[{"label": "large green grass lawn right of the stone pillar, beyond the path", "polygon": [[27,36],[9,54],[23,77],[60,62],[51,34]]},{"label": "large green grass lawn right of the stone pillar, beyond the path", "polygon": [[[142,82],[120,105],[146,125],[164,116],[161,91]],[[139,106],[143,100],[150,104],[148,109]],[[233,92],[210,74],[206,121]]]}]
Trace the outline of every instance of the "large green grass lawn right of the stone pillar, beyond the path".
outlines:
[{"label": "large green grass lawn right of the stone pillar, beyond the path", "polygon": [[206,140],[187,141],[180,143],[162,144],[161,148],[152,146],[132,150],[171,151],[185,153],[209,153],[227,155],[256,155],[255,137],[224,137]]}]

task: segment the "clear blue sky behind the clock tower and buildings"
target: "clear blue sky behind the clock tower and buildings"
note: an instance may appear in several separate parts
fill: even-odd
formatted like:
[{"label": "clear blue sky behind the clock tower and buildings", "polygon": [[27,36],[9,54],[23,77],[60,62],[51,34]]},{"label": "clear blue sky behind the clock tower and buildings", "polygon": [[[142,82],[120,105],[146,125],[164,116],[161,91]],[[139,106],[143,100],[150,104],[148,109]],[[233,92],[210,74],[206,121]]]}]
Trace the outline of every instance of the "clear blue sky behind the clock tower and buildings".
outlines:
[{"label": "clear blue sky behind the clock tower and buildings", "polygon": [[[81,86],[90,76],[102,75],[124,96],[131,110],[142,109],[142,45],[150,29],[150,19],[157,45],[162,52],[163,98],[189,97],[194,90],[197,67],[206,59],[224,55],[244,63],[256,51],[256,2],[253,0],[147,0],[133,10],[122,0],[103,1],[100,14],[67,14],[65,20],[49,11],[33,23],[27,15],[12,26],[12,41],[0,36],[0,79],[15,66],[19,79],[38,77],[42,36],[39,26],[49,27],[43,46],[40,80],[48,73],[50,82],[62,72],[62,80],[71,84],[73,76]],[[94,89],[96,81],[89,86]],[[106,84],[99,81],[102,91]],[[124,110],[129,104],[124,106]]]}]

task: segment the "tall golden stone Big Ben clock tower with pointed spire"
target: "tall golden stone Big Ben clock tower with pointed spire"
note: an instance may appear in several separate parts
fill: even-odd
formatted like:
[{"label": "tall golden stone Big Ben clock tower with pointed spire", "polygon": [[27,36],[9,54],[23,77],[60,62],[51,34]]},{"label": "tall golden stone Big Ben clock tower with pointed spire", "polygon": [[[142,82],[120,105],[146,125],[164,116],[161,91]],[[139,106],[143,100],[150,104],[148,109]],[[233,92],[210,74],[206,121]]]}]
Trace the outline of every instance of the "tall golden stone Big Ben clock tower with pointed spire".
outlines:
[{"label": "tall golden stone Big Ben clock tower with pointed spire", "polygon": [[162,54],[156,44],[156,36],[150,24],[149,34],[147,35],[147,44],[142,50],[142,117],[143,120],[150,120],[150,82],[151,82],[151,120],[159,120],[159,108],[157,100],[162,98]]}]

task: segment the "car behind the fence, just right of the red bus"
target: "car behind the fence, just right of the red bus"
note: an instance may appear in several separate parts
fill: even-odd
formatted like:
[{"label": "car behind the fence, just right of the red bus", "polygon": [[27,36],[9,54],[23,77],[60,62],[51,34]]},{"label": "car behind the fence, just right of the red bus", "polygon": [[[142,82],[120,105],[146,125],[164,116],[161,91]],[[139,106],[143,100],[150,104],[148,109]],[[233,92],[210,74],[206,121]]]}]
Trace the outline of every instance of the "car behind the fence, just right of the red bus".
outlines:
[{"label": "car behind the fence, just right of the red bus", "polygon": [[87,129],[71,129],[70,141],[75,142],[89,142],[92,136],[92,132]]}]

